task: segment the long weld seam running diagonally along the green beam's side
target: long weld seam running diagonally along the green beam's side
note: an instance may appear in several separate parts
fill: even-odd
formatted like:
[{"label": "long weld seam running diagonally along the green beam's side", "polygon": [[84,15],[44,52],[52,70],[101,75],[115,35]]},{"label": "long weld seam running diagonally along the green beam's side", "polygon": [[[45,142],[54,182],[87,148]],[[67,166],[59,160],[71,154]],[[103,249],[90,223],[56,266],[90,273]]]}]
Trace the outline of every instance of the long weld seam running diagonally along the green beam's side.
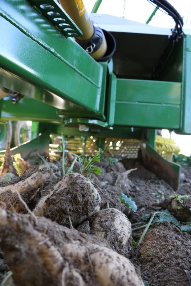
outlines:
[{"label": "long weld seam running diagonally along the green beam's side", "polygon": [[75,70],[75,72],[79,73],[82,77],[84,77],[87,81],[89,81],[91,84],[95,85],[97,88],[100,88],[99,85],[97,85],[95,82],[93,82],[90,78],[88,78],[86,75],[84,75],[82,72],[80,72],[75,66],[72,66],[68,61],[66,61],[60,54],[55,52],[51,47],[47,46],[44,42],[40,41],[38,38],[36,38],[34,35],[32,35],[28,30],[20,26],[17,22],[14,21],[10,15],[8,16],[6,12],[2,9],[0,9],[0,16],[5,18],[8,22],[10,22],[12,25],[14,25],[16,28],[18,28],[23,34],[25,34],[27,37],[32,39],[33,41],[37,42],[40,46],[42,46],[45,50],[53,54],[56,58],[58,58],[61,62],[65,63],[67,66],[69,66],[71,69]]}]

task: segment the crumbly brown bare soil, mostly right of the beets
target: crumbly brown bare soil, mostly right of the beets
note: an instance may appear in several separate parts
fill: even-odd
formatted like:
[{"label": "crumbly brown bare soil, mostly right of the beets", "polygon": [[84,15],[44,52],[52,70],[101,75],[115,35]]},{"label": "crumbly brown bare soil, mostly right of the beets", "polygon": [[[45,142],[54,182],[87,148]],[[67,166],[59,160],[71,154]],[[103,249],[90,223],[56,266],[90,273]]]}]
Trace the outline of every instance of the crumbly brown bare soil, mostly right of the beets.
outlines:
[{"label": "crumbly brown bare soil, mostly right of the beets", "polygon": [[[100,176],[93,175],[92,181],[100,193],[101,209],[107,207],[119,209],[129,218],[132,228],[135,228],[140,225],[140,218],[143,214],[161,210],[162,207],[159,206],[159,203],[164,198],[173,195],[174,191],[165,181],[158,179],[153,173],[146,170],[140,162],[124,159],[122,163],[118,162],[108,166],[106,162],[101,162],[99,165],[102,173]],[[136,170],[127,176],[126,170],[135,168]],[[38,196],[35,197],[36,201],[43,194],[46,195],[46,189],[52,188],[58,180],[47,181],[43,191],[40,189]],[[121,193],[133,198],[137,205],[136,213],[130,211],[120,202],[119,195]],[[181,180],[176,194],[191,194],[191,168],[181,168]],[[33,209],[35,203],[33,201],[29,207]],[[91,230],[91,223],[92,218],[90,217],[76,229],[92,236],[94,233]],[[138,241],[142,232],[143,230],[132,232],[133,239]],[[191,235],[187,232],[165,222],[150,227],[139,247],[134,248],[132,245],[127,245],[123,249],[118,246],[113,248],[132,261],[139,269],[142,279],[148,281],[149,286],[190,286],[185,272],[185,270],[189,273],[191,271],[190,238]],[[4,254],[0,251],[0,283],[8,270]],[[5,285],[8,286],[8,284]],[[9,285],[15,284],[13,282]]]}]

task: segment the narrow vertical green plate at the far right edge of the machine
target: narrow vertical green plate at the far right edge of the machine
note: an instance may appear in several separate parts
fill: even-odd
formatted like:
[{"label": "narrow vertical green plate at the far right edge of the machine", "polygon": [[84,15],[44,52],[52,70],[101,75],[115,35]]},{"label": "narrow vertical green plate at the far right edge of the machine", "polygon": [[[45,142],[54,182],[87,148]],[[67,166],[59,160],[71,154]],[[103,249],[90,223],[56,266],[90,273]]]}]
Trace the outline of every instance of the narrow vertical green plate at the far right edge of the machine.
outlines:
[{"label": "narrow vertical green plate at the far right edge of the machine", "polygon": [[183,73],[183,121],[182,132],[191,134],[191,35],[186,36],[186,47],[184,52],[184,73]]}]

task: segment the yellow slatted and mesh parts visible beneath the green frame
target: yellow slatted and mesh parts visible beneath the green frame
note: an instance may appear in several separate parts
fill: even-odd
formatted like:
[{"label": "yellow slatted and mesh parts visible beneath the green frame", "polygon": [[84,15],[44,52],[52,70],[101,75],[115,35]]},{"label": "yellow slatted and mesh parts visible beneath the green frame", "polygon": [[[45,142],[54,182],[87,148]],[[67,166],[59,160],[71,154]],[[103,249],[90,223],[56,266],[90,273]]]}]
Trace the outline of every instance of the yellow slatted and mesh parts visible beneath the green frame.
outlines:
[{"label": "yellow slatted and mesh parts visible beneath the green frame", "polygon": [[[77,155],[93,156],[97,152],[96,138],[68,138],[66,140],[66,149]],[[114,158],[137,158],[140,148],[140,140],[138,139],[120,139],[120,138],[106,138],[105,140],[105,157]],[[49,155],[51,157],[58,157],[60,153],[57,152],[58,145],[49,145]],[[172,161],[173,154],[179,153],[180,148],[172,139],[166,139],[159,135],[156,136],[155,150],[166,160]]]}]

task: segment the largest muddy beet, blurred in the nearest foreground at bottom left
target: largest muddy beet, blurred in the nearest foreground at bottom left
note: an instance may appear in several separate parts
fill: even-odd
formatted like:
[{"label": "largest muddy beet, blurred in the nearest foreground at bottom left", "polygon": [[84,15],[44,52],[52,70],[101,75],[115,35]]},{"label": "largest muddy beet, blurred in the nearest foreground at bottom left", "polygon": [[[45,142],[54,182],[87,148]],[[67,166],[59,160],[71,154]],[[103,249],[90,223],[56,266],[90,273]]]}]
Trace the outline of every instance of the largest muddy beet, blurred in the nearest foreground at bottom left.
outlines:
[{"label": "largest muddy beet, blurred in the nearest foreground at bottom left", "polygon": [[17,286],[144,286],[127,258],[44,217],[0,209],[0,247]]}]

